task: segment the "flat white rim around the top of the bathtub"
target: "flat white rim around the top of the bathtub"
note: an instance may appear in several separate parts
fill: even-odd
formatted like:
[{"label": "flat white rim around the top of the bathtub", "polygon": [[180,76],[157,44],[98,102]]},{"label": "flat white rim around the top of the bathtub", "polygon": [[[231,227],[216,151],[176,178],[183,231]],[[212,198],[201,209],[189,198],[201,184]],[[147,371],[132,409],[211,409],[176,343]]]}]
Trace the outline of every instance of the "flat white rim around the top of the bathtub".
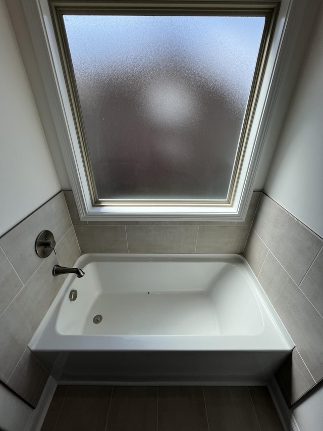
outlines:
[{"label": "flat white rim around the top of the bathtub", "polygon": [[[184,260],[184,261],[210,261],[210,260],[221,260],[222,262],[228,263],[236,263],[239,264],[242,268],[244,267],[247,271],[248,277],[251,277],[251,280],[255,283],[256,294],[259,296],[260,301],[262,302],[261,306],[264,306],[268,315],[270,316],[274,326],[279,332],[283,344],[285,346],[275,347],[273,345],[265,346],[261,343],[262,333],[256,336],[248,336],[248,335],[234,335],[231,336],[229,334],[221,335],[218,334],[216,336],[202,336],[202,335],[93,335],[93,334],[60,334],[56,331],[56,324],[50,325],[50,323],[56,322],[61,302],[63,301],[67,291],[70,289],[71,283],[76,279],[74,274],[69,274],[66,280],[64,281],[58,295],[55,300],[52,302],[49,307],[46,315],[38,326],[34,336],[28,344],[28,347],[31,351],[52,351],[57,352],[58,350],[61,352],[69,352],[69,351],[98,351],[98,350],[107,350],[107,351],[254,351],[254,352],[270,352],[270,351],[292,351],[295,347],[287,329],[285,328],[283,322],[279,318],[277,312],[272,306],[271,302],[267,298],[265,292],[263,291],[261,285],[259,284],[257,278],[252,272],[249,264],[246,259],[237,254],[100,254],[100,253],[86,253],[82,254],[74,266],[86,265],[96,259],[96,261],[147,261],[147,259],[151,259],[152,261],[176,261],[176,260]],[[248,281],[248,280],[247,280]],[[253,288],[252,288],[253,289]],[[257,298],[258,301],[258,298]],[[42,335],[47,338],[47,342],[43,342]],[[214,346],[214,338],[218,340],[218,345]],[[248,339],[255,341],[259,341],[258,345],[253,345],[253,343],[246,343],[242,347],[238,347],[237,344],[236,349],[229,348],[226,342],[220,342],[224,339],[233,341],[248,341]],[[42,340],[42,343],[40,341]],[[49,342],[50,340],[50,342]],[[82,341],[87,341],[86,346],[84,344],[82,347]],[[104,349],[98,349],[98,345],[101,345],[102,341],[106,340],[107,344],[109,344],[109,348],[105,347]],[[150,347],[147,347],[150,342]],[[157,342],[158,343],[155,343]],[[110,342],[110,343],[109,343]],[[203,342],[203,343],[201,343]],[[265,343],[266,344],[266,343]],[[105,343],[104,343],[105,345]],[[202,347],[203,345],[203,347]],[[155,346],[155,347],[152,347]]]}]

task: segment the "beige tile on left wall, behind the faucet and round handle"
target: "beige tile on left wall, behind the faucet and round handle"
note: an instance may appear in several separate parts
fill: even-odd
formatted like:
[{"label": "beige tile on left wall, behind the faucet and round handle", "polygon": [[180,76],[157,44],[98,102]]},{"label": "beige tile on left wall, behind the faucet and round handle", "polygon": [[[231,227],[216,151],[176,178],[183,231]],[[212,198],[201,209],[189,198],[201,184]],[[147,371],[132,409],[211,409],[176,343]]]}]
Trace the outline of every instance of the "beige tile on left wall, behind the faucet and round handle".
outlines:
[{"label": "beige tile on left wall, behind the faucet and round handle", "polygon": [[[58,254],[40,259],[34,247],[44,229]],[[65,280],[52,276],[53,265],[73,265],[79,256],[62,192],[0,238],[0,380],[33,406],[48,375],[27,345]]]}]

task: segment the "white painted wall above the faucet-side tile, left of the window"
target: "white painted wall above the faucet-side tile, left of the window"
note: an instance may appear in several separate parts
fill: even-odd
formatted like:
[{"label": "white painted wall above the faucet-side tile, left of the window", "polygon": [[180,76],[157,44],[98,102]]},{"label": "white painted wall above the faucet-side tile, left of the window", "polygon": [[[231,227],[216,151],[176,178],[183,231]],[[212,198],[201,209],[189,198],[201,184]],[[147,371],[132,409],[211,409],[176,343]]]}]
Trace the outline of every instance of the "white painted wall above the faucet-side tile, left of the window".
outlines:
[{"label": "white painted wall above the faucet-side tile, left of the window", "polygon": [[0,0],[0,235],[60,189],[4,0]]}]

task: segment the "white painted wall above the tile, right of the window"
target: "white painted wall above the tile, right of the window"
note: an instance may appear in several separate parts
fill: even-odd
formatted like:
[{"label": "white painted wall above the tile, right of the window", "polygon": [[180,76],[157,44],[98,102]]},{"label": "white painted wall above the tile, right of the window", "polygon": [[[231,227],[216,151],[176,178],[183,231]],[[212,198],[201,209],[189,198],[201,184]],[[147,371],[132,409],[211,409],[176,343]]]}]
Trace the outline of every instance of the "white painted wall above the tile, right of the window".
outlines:
[{"label": "white painted wall above the tile, right of the window", "polygon": [[323,7],[264,191],[323,236]]}]

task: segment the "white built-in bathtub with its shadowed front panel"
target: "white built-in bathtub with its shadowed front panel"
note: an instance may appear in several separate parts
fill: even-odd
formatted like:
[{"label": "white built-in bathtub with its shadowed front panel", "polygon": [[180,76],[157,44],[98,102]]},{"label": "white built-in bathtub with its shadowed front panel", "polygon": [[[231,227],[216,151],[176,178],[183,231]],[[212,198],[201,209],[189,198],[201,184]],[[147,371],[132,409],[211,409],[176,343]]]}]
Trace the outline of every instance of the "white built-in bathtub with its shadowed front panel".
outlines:
[{"label": "white built-in bathtub with its shadowed front panel", "polygon": [[74,266],[85,276],[68,276],[29,344],[60,380],[264,381],[294,347],[241,256],[87,254]]}]

